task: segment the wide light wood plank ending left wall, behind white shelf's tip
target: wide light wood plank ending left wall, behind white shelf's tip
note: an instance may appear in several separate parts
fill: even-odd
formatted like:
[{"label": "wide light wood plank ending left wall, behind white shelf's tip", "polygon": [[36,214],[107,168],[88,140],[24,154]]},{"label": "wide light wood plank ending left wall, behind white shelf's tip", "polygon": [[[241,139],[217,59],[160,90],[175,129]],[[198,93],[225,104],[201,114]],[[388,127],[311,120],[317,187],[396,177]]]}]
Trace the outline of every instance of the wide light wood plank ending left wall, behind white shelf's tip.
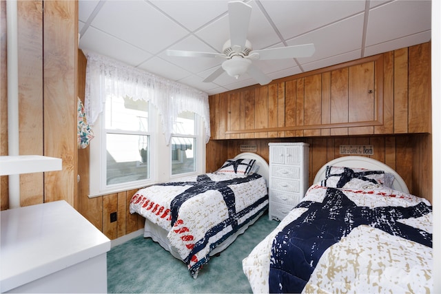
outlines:
[{"label": "wide light wood plank ending left wall, behind white shelf's tip", "polygon": [[44,155],[63,161],[61,171],[45,173],[44,202],[65,200],[74,206],[78,1],[45,1],[44,5]]}]

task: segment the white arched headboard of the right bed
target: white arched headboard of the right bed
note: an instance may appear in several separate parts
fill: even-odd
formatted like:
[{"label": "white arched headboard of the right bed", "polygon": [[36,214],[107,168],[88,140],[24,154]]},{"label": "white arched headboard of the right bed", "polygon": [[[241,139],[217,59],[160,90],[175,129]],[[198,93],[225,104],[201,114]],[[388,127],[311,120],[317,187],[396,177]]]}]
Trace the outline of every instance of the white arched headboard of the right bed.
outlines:
[{"label": "white arched headboard of the right bed", "polygon": [[393,174],[393,176],[395,177],[395,180],[393,180],[392,183],[392,188],[394,190],[409,193],[409,189],[407,188],[406,183],[396,171],[391,169],[391,167],[384,165],[383,162],[365,156],[343,156],[327,162],[326,165],[323,165],[318,170],[316,178],[314,178],[314,183],[320,182],[321,180],[325,179],[327,165],[333,165],[336,167],[358,167],[363,169],[386,171],[389,174]]}]

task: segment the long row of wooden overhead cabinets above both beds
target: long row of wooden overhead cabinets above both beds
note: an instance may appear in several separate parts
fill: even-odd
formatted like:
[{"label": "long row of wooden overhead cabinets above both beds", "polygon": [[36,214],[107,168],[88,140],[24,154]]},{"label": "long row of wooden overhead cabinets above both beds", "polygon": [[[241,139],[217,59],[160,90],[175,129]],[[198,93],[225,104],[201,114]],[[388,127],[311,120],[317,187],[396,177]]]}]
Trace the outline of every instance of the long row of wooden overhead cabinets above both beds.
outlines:
[{"label": "long row of wooden overhead cabinets above both beds", "polygon": [[212,139],[431,132],[422,43],[209,96]]}]

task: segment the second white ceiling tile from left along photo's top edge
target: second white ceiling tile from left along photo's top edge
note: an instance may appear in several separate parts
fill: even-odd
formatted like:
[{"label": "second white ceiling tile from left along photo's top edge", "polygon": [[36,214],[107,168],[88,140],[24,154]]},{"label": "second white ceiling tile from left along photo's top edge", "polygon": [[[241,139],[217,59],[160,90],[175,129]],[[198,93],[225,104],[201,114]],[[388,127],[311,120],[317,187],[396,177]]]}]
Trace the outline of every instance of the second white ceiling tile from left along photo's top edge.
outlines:
[{"label": "second white ceiling tile from left along photo's top edge", "polygon": [[146,1],[106,1],[91,25],[152,54],[188,34]]}]

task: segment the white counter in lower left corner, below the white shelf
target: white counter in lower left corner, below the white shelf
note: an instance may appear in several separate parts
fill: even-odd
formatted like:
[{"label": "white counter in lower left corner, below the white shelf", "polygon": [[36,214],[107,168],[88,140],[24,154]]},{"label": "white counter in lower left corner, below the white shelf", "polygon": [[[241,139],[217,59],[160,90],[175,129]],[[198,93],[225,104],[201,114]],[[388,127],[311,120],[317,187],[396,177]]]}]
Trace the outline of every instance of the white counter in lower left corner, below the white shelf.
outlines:
[{"label": "white counter in lower left corner, below the white shelf", "polygon": [[110,240],[68,202],[0,214],[1,293],[107,292]]}]

